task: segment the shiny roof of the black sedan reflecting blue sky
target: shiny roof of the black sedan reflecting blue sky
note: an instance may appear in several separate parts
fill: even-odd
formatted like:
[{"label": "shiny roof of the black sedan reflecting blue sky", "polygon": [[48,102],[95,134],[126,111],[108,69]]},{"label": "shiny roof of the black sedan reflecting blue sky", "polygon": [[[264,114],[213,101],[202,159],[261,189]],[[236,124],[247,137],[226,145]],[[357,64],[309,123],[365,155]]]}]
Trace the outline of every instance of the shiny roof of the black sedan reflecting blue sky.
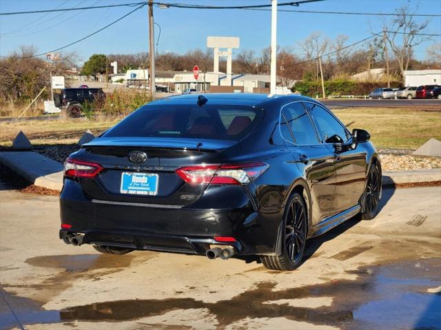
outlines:
[{"label": "shiny roof of the black sedan reflecting blue sky", "polygon": [[216,93],[216,94],[185,94],[170,96],[155,100],[150,104],[197,104],[198,97],[207,98],[207,104],[243,105],[254,107],[263,103],[277,100],[278,102],[289,102],[290,100],[312,100],[300,95],[279,95],[279,94],[252,94],[252,93]]}]

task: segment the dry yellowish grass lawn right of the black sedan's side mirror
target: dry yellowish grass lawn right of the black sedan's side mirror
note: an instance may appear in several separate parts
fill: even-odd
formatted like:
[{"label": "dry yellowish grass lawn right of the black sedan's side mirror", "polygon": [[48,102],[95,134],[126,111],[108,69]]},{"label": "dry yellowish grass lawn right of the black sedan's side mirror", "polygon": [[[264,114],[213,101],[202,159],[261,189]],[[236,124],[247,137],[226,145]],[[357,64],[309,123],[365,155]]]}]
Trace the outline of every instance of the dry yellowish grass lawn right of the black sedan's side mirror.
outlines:
[{"label": "dry yellowish grass lawn right of the black sedan's side mirror", "polygon": [[366,129],[377,148],[416,149],[431,137],[441,140],[441,113],[391,108],[333,111],[349,130]]}]

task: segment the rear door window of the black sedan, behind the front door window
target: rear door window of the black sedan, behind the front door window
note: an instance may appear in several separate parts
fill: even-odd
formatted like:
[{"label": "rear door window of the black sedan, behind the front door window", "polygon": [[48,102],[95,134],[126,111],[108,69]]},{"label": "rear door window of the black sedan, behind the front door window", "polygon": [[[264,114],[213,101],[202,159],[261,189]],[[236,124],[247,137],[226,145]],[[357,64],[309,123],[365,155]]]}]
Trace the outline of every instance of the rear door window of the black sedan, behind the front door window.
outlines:
[{"label": "rear door window of the black sedan, behind the front door window", "polygon": [[309,115],[300,102],[283,107],[280,118],[280,133],[283,138],[295,144],[318,144],[316,130]]}]

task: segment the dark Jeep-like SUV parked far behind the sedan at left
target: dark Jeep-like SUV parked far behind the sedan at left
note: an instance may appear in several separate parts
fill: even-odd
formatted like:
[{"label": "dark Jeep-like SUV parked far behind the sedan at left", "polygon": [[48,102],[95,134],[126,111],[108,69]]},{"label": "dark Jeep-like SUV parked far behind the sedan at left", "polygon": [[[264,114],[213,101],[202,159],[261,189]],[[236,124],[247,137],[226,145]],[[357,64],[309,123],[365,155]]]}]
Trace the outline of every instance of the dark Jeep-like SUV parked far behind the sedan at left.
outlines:
[{"label": "dark Jeep-like SUV parked far behind the sedan at left", "polygon": [[105,98],[101,88],[65,88],[61,94],[54,95],[55,107],[65,108],[69,117],[78,118],[83,112],[85,102]]}]

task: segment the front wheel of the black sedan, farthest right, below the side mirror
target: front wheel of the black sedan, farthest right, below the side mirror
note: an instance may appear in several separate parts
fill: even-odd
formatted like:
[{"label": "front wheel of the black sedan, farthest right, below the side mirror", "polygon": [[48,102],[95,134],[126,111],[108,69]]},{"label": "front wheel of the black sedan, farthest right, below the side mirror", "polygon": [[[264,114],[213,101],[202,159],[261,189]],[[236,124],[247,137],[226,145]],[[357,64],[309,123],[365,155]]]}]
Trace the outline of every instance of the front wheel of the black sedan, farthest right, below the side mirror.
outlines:
[{"label": "front wheel of the black sedan, farthest right, below the side mirror", "polygon": [[371,164],[367,173],[367,182],[363,198],[363,220],[371,220],[378,214],[378,204],[381,192],[381,174],[377,164]]}]

